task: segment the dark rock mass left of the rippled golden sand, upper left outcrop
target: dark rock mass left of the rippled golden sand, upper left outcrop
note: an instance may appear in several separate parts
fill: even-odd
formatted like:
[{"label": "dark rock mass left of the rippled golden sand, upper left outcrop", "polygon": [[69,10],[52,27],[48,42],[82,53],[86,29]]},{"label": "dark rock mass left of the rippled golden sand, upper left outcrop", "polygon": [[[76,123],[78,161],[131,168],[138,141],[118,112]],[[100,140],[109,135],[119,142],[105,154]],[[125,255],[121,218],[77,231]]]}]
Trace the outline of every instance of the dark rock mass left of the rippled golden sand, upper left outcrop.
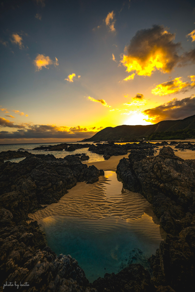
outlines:
[{"label": "dark rock mass left of the rippled golden sand, upper left outcrop", "polygon": [[87,167],[74,155],[57,159],[53,155],[30,155],[19,163],[0,166],[0,203],[13,213],[14,220],[25,220],[27,213],[57,202],[77,182],[98,181],[100,171]]}]

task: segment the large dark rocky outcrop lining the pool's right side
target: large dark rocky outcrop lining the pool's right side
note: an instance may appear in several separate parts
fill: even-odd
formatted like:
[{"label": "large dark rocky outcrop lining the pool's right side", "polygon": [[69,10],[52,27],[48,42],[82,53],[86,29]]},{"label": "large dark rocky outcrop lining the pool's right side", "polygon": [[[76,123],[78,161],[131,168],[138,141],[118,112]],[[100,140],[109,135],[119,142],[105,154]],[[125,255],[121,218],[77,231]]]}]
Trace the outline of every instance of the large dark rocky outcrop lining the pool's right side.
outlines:
[{"label": "large dark rocky outcrop lining the pool's right side", "polygon": [[168,233],[156,256],[150,258],[154,284],[171,286],[176,292],[193,291],[195,160],[175,156],[171,147],[163,147],[157,156],[131,152],[129,159],[121,159],[117,166],[123,187],[143,194],[153,204],[154,213]]}]

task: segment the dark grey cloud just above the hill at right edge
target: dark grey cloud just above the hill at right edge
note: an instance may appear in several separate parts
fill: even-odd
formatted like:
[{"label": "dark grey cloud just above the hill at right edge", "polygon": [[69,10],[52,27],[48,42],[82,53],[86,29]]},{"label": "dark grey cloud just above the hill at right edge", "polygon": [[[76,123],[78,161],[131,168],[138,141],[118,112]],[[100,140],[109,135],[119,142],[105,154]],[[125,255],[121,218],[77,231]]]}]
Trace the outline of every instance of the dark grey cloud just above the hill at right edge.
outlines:
[{"label": "dark grey cloud just above the hill at right edge", "polygon": [[195,95],[193,94],[182,100],[173,98],[163,105],[146,109],[143,113],[149,117],[146,121],[153,123],[158,123],[162,120],[184,119],[195,114]]}]

